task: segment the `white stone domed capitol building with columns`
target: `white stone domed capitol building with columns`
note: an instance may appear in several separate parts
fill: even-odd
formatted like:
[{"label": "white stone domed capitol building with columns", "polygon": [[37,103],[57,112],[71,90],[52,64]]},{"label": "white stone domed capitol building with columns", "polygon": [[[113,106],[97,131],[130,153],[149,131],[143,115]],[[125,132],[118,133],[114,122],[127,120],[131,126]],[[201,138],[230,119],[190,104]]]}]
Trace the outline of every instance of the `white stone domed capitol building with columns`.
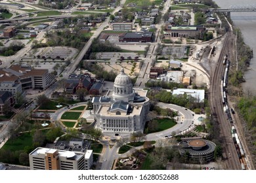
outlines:
[{"label": "white stone domed capitol building with columns", "polygon": [[146,90],[135,89],[123,68],[116,76],[113,90],[93,97],[96,128],[105,135],[128,135],[144,131],[150,103]]}]

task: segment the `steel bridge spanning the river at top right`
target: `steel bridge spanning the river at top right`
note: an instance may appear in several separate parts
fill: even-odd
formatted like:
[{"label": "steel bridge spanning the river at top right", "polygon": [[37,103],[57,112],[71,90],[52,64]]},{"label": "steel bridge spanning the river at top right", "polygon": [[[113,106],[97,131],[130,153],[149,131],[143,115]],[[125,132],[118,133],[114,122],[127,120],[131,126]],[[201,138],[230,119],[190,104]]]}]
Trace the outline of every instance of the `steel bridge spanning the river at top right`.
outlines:
[{"label": "steel bridge spanning the river at top right", "polygon": [[211,8],[213,12],[226,12],[230,16],[230,12],[256,12],[256,5],[231,5],[228,8]]}]

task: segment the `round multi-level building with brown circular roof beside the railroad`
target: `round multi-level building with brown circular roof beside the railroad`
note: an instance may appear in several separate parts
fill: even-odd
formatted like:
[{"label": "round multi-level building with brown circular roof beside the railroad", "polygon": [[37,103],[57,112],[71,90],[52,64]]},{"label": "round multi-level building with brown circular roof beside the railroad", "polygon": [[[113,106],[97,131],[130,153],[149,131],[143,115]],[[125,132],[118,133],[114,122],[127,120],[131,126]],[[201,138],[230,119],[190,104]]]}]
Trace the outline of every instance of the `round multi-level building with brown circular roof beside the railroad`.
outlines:
[{"label": "round multi-level building with brown circular roof beside the railroad", "polygon": [[188,158],[195,161],[211,161],[213,159],[216,144],[204,139],[196,139],[189,141],[182,141],[179,145],[179,152],[181,156],[188,154]]}]

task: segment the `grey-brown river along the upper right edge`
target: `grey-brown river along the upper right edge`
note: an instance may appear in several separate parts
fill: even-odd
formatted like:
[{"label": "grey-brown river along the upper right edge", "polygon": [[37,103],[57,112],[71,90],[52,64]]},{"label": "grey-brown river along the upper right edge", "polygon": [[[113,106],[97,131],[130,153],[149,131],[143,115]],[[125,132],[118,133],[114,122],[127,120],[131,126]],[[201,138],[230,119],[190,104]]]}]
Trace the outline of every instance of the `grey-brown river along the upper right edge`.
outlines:
[{"label": "grey-brown river along the upper right edge", "polygon": [[[215,0],[221,8],[228,8],[230,5],[255,5],[255,0]],[[254,58],[248,71],[245,72],[246,82],[242,84],[244,91],[256,91],[256,12],[231,12],[231,19],[234,25],[242,31],[244,42],[253,49]],[[256,93],[256,92],[254,92]]]}]

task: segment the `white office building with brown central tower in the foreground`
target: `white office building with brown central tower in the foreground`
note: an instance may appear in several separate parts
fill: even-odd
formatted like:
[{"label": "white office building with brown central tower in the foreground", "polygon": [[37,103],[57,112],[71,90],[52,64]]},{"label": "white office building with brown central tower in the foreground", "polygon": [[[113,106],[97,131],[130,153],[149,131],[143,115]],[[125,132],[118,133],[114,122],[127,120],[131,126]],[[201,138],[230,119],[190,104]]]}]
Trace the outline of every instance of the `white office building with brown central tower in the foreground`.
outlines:
[{"label": "white office building with brown central tower in the foreground", "polygon": [[88,170],[93,164],[93,150],[84,153],[36,148],[29,158],[31,170]]}]

